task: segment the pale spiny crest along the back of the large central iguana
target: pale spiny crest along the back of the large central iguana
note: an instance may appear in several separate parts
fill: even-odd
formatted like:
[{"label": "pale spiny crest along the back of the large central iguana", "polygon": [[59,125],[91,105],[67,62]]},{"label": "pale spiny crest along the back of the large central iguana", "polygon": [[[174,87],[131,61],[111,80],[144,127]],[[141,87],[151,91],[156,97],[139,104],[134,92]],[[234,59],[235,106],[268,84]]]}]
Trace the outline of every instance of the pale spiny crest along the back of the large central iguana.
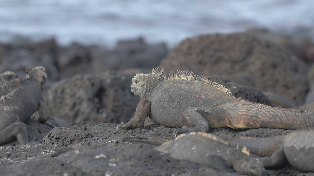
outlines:
[{"label": "pale spiny crest along the back of the large central iguana", "polygon": [[227,89],[225,86],[217,83],[217,82],[213,82],[211,80],[208,80],[205,76],[202,75],[196,75],[194,74],[192,71],[188,72],[188,71],[171,71],[168,78],[166,78],[166,76],[163,76],[163,80],[168,81],[168,80],[191,80],[191,81],[195,81],[195,82],[199,82],[199,83],[203,83],[209,86],[212,86],[220,91],[225,92],[226,94],[232,96],[232,93],[229,91],[229,89]]}]

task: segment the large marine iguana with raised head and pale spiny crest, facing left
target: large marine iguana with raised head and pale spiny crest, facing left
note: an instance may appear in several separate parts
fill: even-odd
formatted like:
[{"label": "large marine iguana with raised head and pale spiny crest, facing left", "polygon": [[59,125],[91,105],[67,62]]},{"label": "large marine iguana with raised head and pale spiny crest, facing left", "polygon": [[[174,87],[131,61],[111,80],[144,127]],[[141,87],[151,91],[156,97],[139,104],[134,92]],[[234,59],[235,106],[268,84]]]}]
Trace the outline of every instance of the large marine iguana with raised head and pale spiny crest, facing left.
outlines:
[{"label": "large marine iguana with raised head and pale spiny crest, facing left", "polygon": [[171,71],[168,77],[155,68],[151,74],[137,74],[131,91],[142,98],[130,122],[116,129],[136,128],[150,122],[167,127],[182,127],[174,134],[209,128],[314,127],[314,111],[279,108],[236,98],[223,85],[187,71]]}]

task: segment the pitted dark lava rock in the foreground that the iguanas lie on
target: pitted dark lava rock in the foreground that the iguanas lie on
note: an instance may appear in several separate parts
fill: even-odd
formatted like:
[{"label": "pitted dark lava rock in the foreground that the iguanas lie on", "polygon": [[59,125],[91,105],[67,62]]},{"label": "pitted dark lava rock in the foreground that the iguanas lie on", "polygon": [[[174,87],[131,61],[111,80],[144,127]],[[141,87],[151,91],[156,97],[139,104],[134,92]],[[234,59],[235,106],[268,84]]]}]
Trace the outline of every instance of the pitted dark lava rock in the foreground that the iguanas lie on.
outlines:
[{"label": "pitted dark lava rock in the foreground that the iguanas lie on", "polygon": [[[103,123],[97,126],[89,124],[64,129],[53,128],[39,145],[1,147],[2,175],[240,175],[176,160],[143,145],[120,142],[121,138],[131,136],[172,140],[176,128],[149,125],[116,131],[116,126],[117,124]],[[210,130],[211,134],[220,137],[267,137],[285,132],[286,130],[282,129],[267,128]],[[252,133],[254,135],[250,135]],[[55,158],[50,157],[51,153],[58,149],[68,145],[75,146],[74,144],[79,144],[80,148],[70,149]],[[300,173],[292,166],[269,171],[273,175],[282,176]]]}]

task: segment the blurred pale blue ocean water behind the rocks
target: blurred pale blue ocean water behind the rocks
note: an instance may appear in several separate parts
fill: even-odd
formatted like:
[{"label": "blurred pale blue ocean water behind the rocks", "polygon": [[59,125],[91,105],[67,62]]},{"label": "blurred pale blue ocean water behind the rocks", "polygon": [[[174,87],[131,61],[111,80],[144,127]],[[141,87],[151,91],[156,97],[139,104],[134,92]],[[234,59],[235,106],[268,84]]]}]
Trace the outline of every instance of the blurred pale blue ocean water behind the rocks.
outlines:
[{"label": "blurred pale blue ocean water behind the rocks", "polygon": [[16,36],[113,46],[144,37],[173,47],[199,34],[264,27],[314,39],[313,0],[0,0],[0,42]]}]

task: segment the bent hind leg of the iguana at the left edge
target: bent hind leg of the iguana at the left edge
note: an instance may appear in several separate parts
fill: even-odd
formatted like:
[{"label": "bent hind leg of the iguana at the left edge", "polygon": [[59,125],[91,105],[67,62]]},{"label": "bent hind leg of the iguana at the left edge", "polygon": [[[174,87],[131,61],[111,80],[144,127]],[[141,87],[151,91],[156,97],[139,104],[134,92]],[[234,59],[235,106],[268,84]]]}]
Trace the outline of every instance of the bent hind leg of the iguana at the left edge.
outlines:
[{"label": "bent hind leg of the iguana at the left edge", "polygon": [[15,122],[0,131],[0,145],[17,139],[19,144],[28,143],[26,125],[23,122]]}]

